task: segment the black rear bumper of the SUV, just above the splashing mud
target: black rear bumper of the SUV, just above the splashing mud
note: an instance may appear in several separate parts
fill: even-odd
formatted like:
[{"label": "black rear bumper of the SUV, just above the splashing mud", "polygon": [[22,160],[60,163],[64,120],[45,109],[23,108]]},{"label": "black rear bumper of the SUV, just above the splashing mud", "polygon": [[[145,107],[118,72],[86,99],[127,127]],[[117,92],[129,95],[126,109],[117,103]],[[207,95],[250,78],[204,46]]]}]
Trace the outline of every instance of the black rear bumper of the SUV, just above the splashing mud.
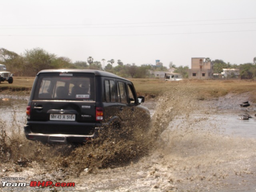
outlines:
[{"label": "black rear bumper of the SUV, just above the splashing mud", "polygon": [[[70,128],[72,129],[72,127]],[[45,143],[66,143],[66,142],[88,142],[98,136],[102,127],[95,127],[92,134],[54,134],[54,133],[34,133],[30,125],[24,126],[24,133],[28,140],[41,141]]]}]

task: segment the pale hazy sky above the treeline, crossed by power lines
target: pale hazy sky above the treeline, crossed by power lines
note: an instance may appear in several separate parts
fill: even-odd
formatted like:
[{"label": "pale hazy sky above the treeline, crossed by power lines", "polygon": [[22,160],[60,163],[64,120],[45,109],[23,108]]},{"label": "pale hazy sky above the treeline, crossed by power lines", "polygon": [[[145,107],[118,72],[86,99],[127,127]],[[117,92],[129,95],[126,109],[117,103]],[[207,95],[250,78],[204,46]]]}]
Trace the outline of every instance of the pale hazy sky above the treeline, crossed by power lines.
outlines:
[{"label": "pale hazy sky above the treeline, crossed by power lines", "polygon": [[105,66],[191,67],[191,58],[252,63],[256,0],[0,0],[0,48],[42,48]]}]

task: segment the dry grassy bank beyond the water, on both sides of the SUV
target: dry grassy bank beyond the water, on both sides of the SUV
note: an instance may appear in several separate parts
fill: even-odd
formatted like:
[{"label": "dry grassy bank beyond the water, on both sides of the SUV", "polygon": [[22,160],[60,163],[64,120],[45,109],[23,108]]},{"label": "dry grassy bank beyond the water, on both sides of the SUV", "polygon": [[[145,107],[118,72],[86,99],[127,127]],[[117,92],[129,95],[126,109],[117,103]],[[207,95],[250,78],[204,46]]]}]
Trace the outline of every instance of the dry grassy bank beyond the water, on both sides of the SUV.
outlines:
[{"label": "dry grassy bank beyond the water, on both sides of the SUV", "polygon": [[[256,102],[256,81],[253,80],[182,80],[165,82],[159,79],[130,79],[140,95],[156,98],[164,92],[176,88],[187,89],[188,92],[198,92],[198,99],[208,99],[224,96],[228,93],[251,93],[251,100]],[[34,77],[14,77],[13,84],[2,82],[0,94],[16,94],[28,96],[34,82]]]}]

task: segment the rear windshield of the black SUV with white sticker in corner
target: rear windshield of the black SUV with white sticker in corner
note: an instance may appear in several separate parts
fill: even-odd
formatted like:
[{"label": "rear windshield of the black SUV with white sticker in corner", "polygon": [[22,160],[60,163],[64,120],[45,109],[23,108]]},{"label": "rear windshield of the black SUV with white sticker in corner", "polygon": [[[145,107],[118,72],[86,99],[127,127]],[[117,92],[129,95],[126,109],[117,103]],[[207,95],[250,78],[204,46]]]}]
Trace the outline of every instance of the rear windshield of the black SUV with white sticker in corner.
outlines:
[{"label": "rear windshield of the black SUV with white sticker in corner", "polygon": [[34,99],[95,101],[94,79],[90,73],[41,73]]}]

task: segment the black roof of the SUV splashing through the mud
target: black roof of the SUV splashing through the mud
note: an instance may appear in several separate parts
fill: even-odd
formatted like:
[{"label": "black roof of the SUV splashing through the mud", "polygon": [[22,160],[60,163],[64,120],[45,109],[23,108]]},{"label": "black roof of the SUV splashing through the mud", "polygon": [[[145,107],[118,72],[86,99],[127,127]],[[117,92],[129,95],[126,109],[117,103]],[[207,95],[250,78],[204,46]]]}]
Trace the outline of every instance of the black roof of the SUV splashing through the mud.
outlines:
[{"label": "black roof of the SUV splashing through the mud", "polygon": [[122,78],[122,77],[112,74],[110,72],[100,71],[100,70],[92,70],[92,69],[46,69],[46,70],[41,70],[40,72],[38,72],[37,75],[39,75],[41,73],[92,73],[95,76],[119,78],[122,80],[129,81],[125,78]]}]

